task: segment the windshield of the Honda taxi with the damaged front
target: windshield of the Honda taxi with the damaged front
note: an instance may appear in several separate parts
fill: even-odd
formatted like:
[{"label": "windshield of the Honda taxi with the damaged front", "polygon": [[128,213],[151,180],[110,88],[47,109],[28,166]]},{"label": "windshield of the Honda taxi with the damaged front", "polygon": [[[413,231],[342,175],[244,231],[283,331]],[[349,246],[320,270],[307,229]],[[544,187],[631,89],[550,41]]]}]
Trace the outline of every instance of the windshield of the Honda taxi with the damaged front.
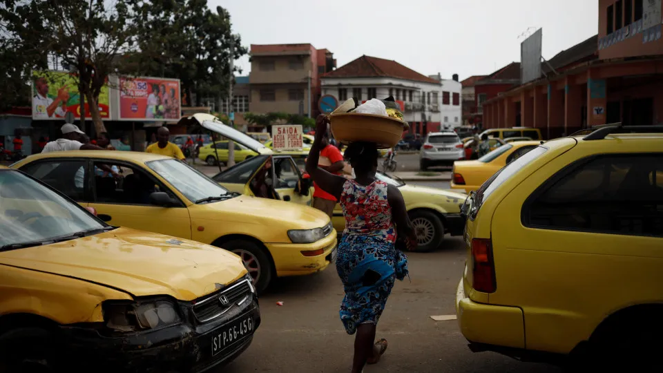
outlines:
[{"label": "windshield of the Honda taxi with the damaged front", "polygon": [[23,173],[0,171],[0,247],[41,245],[108,228],[79,205]]}]

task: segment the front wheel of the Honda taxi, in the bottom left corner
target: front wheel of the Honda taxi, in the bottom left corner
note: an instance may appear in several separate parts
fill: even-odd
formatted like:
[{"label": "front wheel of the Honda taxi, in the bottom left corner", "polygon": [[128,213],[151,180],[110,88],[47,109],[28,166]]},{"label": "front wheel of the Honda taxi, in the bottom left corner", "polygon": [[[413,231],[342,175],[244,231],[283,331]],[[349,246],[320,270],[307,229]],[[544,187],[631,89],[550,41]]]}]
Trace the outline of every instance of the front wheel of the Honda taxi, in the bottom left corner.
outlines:
[{"label": "front wheel of the Honda taxi, in the bottom left corner", "polygon": [[57,342],[40,327],[18,327],[0,334],[0,372],[56,372]]}]

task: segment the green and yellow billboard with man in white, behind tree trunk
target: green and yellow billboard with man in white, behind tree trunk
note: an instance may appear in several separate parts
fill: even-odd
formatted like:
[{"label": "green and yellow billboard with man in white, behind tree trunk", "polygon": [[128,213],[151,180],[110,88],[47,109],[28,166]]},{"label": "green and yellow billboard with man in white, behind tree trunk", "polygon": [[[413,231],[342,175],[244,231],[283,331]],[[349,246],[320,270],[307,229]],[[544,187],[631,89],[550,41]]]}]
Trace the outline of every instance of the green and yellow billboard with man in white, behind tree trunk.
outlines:
[{"label": "green and yellow billboard with man in white, behind tree trunk", "polygon": [[[67,112],[81,117],[78,78],[61,71],[32,71],[32,119],[64,119]],[[108,86],[99,94],[99,114],[110,117]],[[90,106],[85,102],[85,117],[91,118]]]}]

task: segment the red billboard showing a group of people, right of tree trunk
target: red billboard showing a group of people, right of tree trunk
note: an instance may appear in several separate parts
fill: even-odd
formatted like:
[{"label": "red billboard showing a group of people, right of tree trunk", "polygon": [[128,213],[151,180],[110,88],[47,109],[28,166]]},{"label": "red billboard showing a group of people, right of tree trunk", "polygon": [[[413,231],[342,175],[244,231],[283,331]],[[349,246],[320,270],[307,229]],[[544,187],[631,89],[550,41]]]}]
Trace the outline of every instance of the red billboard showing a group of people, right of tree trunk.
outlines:
[{"label": "red billboard showing a group of people, right of tree trunk", "polygon": [[180,120],[180,81],[178,79],[120,77],[120,119]]}]

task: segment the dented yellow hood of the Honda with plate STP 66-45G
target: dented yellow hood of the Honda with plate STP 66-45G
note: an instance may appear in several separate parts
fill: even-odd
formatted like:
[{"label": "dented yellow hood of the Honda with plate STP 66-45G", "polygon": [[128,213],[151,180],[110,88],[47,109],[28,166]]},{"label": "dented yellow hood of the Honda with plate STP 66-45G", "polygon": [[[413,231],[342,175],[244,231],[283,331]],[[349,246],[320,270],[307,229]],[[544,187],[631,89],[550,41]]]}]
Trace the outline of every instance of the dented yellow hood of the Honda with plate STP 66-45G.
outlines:
[{"label": "dented yellow hood of the Honda with plate STP 66-45G", "polygon": [[247,273],[229,251],[117,228],[95,236],[0,253],[0,263],[90,281],[133,296],[194,300]]}]

